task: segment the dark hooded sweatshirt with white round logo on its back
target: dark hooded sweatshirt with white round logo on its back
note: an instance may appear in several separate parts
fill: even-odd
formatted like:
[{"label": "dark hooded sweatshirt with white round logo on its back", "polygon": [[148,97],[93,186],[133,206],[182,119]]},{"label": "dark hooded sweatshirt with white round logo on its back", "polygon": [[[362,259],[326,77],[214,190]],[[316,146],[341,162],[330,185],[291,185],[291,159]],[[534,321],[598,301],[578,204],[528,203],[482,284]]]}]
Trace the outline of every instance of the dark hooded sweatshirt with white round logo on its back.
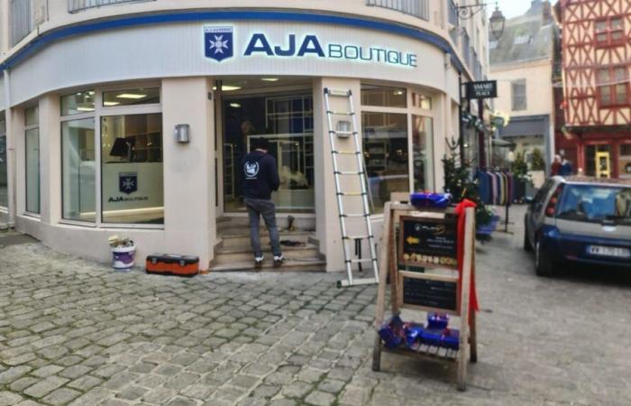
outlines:
[{"label": "dark hooded sweatshirt with white round logo on its back", "polygon": [[244,198],[270,199],[272,190],[280,186],[276,160],[268,153],[253,151],[241,160],[242,192]]}]

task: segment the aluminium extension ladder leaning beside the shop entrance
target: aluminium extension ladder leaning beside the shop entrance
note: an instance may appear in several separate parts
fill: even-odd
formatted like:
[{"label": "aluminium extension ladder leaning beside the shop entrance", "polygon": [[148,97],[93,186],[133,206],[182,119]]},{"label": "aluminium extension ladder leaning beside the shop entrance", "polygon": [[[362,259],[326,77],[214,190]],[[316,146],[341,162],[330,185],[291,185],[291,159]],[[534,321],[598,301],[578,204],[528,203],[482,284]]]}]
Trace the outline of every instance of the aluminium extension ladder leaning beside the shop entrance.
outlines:
[{"label": "aluminium extension ladder leaning beside the shop entrance", "polygon": [[[343,97],[346,99],[348,111],[335,112],[331,109],[330,97]],[[368,203],[368,187],[366,181],[365,164],[363,161],[363,154],[360,147],[359,134],[357,132],[357,117],[355,115],[355,109],[352,103],[352,91],[340,90],[333,88],[325,88],[325,106],[326,106],[326,118],[329,125],[329,140],[331,141],[331,153],[333,155],[333,171],[335,179],[335,195],[337,197],[337,208],[340,213],[340,226],[342,227],[342,245],[344,252],[344,263],[346,265],[346,273],[348,274],[347,281],[338,281],[337,287],[347,287],[356,285],[370,285],[379,283],[379,265],[377,262],[377,249],[375,247],[375,237],[372,234],[372,226],[370,225],[370,208]],[[351,119],[351,129],[339,129],[340,124],[337,127],[333,126],[334,116],[347,116]],[[353,150],[341,151],[336,146],[336,138],[349,138],[352,137]],[[342,156],[355,156],[356,170],[354,171],[340,171],[338,165],[338,157]],[[360,191],[343,191],[341,188],[341,176],[356,176],[361,183]],[[344,198],[347,197],[361,197],[363,211],[361,213],[347,213],[344,210]],[[347,229],[349,224],[347,222],[352,219],[362,219],[365,222],[366,235],[348,235]],[[353,259],[350,254],[349,244],[357,240],[368,240],[370,246],[370,258],[358,258]],[[357,278],[352,277],[352,264],[359,263],[371,263],[372,270],[374,272],[373,278]],[[360,268],[361,269],[361,268]]]}]

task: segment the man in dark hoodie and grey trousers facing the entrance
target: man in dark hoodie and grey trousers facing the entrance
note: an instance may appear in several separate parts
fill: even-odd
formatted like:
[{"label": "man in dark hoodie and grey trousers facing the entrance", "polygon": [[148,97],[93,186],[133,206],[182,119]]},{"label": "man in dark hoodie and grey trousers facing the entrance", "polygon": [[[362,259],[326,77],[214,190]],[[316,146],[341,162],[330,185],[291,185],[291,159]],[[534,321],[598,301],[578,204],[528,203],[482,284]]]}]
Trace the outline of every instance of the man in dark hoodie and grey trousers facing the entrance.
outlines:
[{"label": "man in dark hoodie and grey trousers facing the entrance", "polygon": [[254,263],[261,266],[263,252],[259,235],[261,216],[270,233],[271,250],[274,254],[274,265],[283,263],[280,252],[279,229],[276,226],[276,208],[271,201],[271,192],[279,189],[279,171],[276,160],[268,154],[270,142],[266,138],[256,138],[252,142],[254,151],[245,155],[241,161],[242,193],[245,206],[250,215],[250,237]]}]

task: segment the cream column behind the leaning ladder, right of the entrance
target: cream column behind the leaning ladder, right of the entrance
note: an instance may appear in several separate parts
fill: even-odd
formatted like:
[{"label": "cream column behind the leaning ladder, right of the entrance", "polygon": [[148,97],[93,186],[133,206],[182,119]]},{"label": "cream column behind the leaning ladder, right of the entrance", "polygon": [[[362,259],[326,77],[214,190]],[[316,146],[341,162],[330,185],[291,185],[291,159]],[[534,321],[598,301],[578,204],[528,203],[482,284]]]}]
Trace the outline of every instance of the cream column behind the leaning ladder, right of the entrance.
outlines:
[{"label": "cream column behind the leaning ladder, right of the entrance", "polygon": [[[335,195],[331,143],[326,122],[325,88],[352,90],[355,112],[358,113],[358,131],[361,134],[361,115],[359,114],[361,112],[361,84],[359,80],[352,79],[316,78],[314,80],[315,233],[320,242],[320,253],[326,256],[326,271],[333,272],[344,269],[344,257],[339,210]],[[342,97],[332,98],[331,108],[334,111],[346,111],[348,108],[346,99]],[[346,120],[348,118],[343,119]],[[336,121],[334,125],[335,123]],[[341,150],[350,150],[352,149],[352,140],[344,140],[338,147]],[[344,156],[340,161],[348,161],[349,159],[352,159],[351,156]],[[354,162],[351,163],[354,164]],[[359,186],[352,185],[352,182],[349,182],[343,184],[343,187],[357,189]],[[347,198],[345,202],[348,201],[348,204],[344,205],[346,212],[361,213],[361,206],[357,203],[358,200],[359,198]],[[353,202],[354,204],[352,204]],[[366,232],[359,233],[354,231],[349,234],[365,235]],[[364,256],[369,255],[368,251],[364,251]]]}]

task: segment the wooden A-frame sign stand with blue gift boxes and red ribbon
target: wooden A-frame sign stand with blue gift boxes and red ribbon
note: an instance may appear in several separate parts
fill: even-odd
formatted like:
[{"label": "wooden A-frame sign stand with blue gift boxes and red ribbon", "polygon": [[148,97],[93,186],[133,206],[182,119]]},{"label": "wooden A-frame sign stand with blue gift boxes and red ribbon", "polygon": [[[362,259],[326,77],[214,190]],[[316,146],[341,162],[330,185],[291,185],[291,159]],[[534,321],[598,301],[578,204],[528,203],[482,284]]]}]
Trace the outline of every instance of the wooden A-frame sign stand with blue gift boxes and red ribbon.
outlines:
[{"label": "wooden A-frame sign stand with blue gift boxes and red ribbon", "polygon": [[[467,365],[477,361],[475,311],[470,306],[471,281],[474,274],[475,209],[465,211],[464,255],[462,277],[458,275],[457,217],[453,208],[447,210],[421,210],[413,206],[388,202],[384,209],[383,238],[380,249],[380,284],[377,293],[375,327],[379,330],[384,322],[386,305],[387,274],[390,281],[391,310],[397,315],[400,309],[446,313],[460,318],[459,349],[450,350],[438,346],[420,346],[417,350],[399,346],[389,349],[376,334],[373,349],[372,369],[380,370],[381,352],[434,359],[457,365],[457,387],[466,389]],[[425,245],[423,235],[410,238],[408,223],[415,230],[440,229],[443,246]],[[395,236],[399,225],[399,238]],[[420,231],[421,233],[424,231]],[[430,231],[431,232],[431,231]],[[446,236],[444,236],[446,235]],[[406,241],[407,240],[407,241]],[[398,249],[397,249],[398,248]],[[416,254],[409,254],[416,253]],[[434,254],[432,254],[434,253]],[[400,265],[425,268],[425,272],[410,272]],[[420,321],[421,318],[418,319]]]}]

